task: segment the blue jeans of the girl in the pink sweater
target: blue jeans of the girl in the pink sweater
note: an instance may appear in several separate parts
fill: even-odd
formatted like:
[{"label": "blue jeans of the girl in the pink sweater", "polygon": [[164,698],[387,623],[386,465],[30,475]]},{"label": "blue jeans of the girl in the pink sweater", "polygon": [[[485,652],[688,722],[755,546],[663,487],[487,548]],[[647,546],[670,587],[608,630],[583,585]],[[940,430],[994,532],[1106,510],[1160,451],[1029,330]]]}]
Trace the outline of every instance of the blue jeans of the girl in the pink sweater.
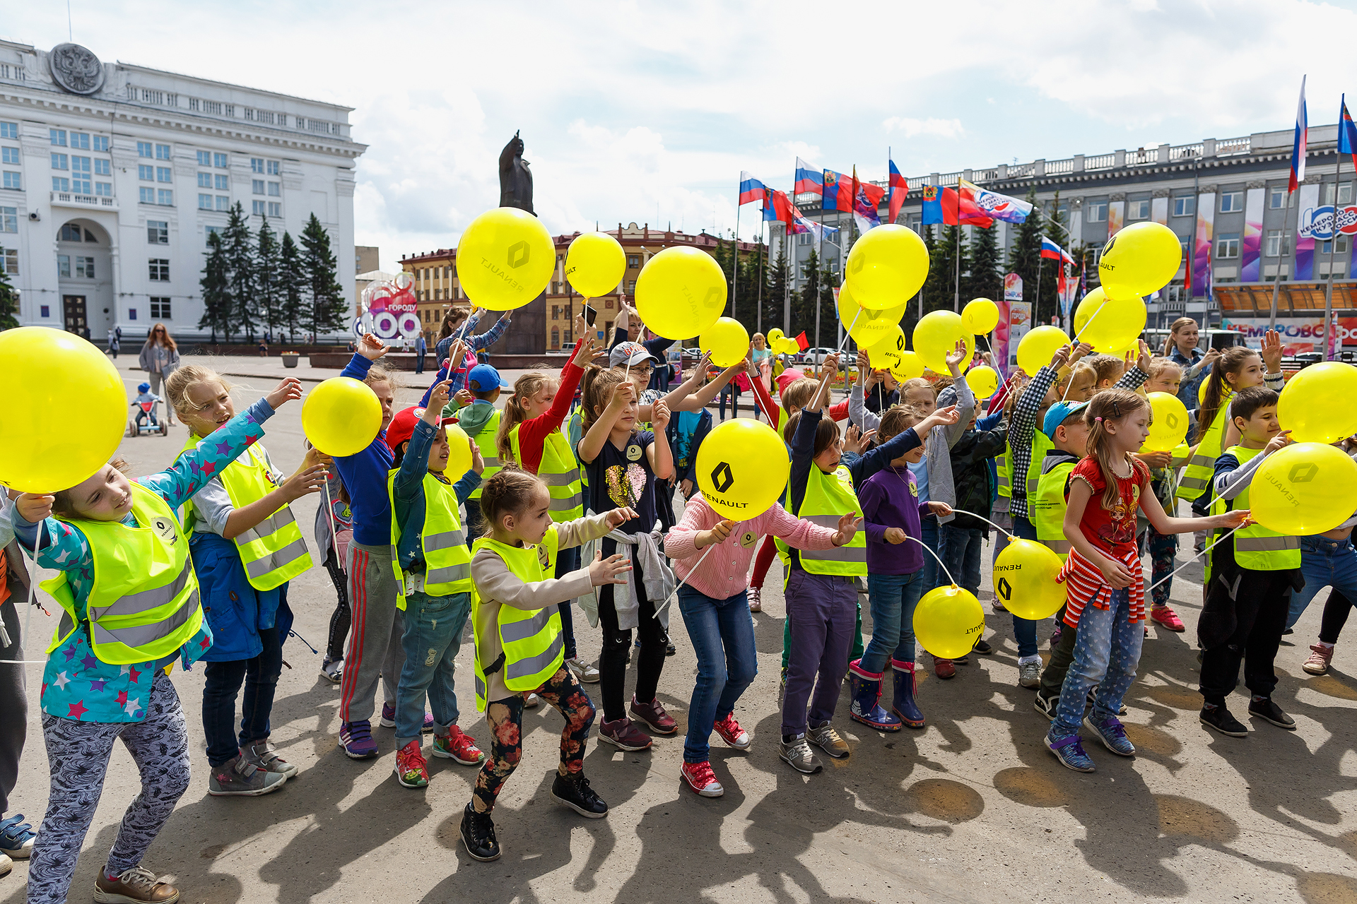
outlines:
[{"label": "blue jeans of the girl in the pink sweater", "polygon": [[711,759],[711,729],[730,716],[735,701],[759,674],[754,621],[745,591],[726,599],[707,596],[688,584],[678,588],[678,611],[697,652],[697,683],[688,705],[685,763]]}]

